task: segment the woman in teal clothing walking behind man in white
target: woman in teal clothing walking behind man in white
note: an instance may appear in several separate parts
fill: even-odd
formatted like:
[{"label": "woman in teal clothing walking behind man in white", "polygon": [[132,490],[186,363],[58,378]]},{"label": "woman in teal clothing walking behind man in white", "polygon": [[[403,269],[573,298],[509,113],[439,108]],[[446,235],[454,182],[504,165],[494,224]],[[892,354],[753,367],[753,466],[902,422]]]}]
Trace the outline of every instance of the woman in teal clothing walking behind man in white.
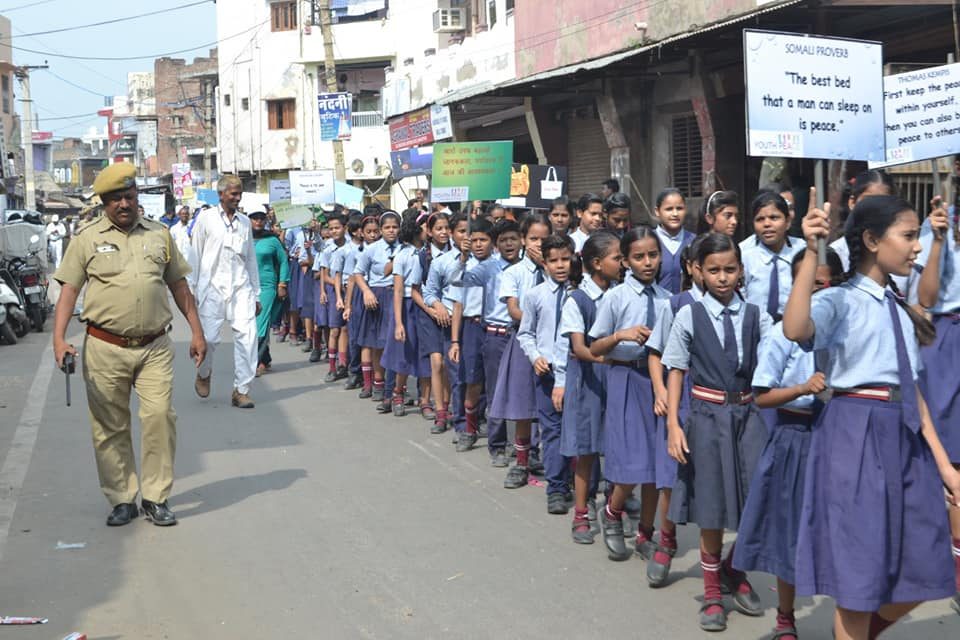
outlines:
[{"label": "woman in teal clothing walking behind man in white", "polygon": [[253,227],[257,268],[260,272],[260,313],[257,315],[258,363],[257,375],[270,368],[270,326],[280,317],[283,299],[287,297],[290,267],[287,252],[274,233],[266,231],[267,214],[253,211],[248,214]]}]

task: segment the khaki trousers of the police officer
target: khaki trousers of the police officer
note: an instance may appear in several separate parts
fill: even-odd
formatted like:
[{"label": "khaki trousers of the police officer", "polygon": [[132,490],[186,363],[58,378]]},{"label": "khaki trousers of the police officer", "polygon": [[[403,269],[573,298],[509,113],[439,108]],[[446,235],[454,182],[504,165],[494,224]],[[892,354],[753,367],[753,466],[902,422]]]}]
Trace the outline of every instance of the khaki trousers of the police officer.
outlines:
[{"label": "khaki trousers of the police officer", "polygon": [[[177,441],[170,335],[133,348],[87,336],[83,379],[103,495],[111,506],[134,502],[138,490],[145,500],[164,502],[173,488]],[[131,388],[140,400],[139,485],[130,425]]]}]

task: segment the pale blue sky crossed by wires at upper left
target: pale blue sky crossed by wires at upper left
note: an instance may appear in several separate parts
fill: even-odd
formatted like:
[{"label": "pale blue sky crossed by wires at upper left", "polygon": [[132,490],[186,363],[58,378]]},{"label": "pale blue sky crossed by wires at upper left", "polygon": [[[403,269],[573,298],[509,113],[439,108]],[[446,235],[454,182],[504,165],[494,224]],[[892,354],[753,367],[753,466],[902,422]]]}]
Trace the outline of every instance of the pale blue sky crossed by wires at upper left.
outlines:
[{"label": "pale blue sky crossed by wires at upper left", "polygon": [[[217,39],[213,1],[171,10],[195,2],[197,0],[0,0],[0,15],[10,19],[13,29],[14,64],[50,65],[49,71],[35,70],[30,75],[40,130],[53,131],[57,137],[80,136],[91,126],[103,130],[106,119],[98,117],[96,112],[104,106],[103,96],[126,95],[128,72],[153,71],[153,59],[173,51],[200,47],[170,56],[184,58],[188,63],[194,57],[206,56],[210,48],[206,45]],[[163,13],[60,33],[25,35],[156,11]],[[58,53],[138,59],[70,60],[55,55]],[[18,98],[22,97],[19,83],[16,92]],[[17,102],[17,110],[23,113],[22,103]]]}]

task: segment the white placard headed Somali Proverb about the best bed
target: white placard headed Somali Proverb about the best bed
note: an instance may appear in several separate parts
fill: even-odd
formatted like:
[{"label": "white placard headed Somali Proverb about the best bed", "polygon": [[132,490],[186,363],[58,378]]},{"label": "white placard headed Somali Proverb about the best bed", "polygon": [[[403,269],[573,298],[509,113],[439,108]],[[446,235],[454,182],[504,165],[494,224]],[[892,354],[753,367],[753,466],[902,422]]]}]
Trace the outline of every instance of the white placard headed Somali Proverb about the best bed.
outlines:
[{"label": "white placard headed Somali Proverb about the best bed", "polygon": [[879,161],[879,42],[745,29],[751,156]]}]

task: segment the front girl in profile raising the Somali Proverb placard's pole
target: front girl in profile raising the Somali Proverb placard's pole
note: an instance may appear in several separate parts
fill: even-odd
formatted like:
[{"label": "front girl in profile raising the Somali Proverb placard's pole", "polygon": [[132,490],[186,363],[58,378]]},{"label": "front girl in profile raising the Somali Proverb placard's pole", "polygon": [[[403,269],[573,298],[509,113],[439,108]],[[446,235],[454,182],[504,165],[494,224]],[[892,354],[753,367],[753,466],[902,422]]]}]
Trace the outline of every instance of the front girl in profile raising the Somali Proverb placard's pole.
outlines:
[{"label": "front girl in profile raising the Somali Proverb placard's pole", "polygon": [[[787,336],[827,353],[824,374],[833,390],[810,442],[797,594],[834,598],[838,622],[848,628],[868,616],[871,628],[886,628],[909,611],[907,603],[955,592],[944,486],[953,503],[960,476],[944,464],[948,456],[916,384],[920,335],[929,339],[932,327],[914,319],[889,286],[889,265],[910,267],[887,236],[919,226],[918,217],[910,204],[880,195],[857,203],[851,217],[856,271],[811,296],[816,260],[808,249],[784,316]],[[808,213],[808,245],[827,226],[824,212]],[[877,239],[870,250],[867,229]],[[888,604],[901,607],[881,608]]]}]

